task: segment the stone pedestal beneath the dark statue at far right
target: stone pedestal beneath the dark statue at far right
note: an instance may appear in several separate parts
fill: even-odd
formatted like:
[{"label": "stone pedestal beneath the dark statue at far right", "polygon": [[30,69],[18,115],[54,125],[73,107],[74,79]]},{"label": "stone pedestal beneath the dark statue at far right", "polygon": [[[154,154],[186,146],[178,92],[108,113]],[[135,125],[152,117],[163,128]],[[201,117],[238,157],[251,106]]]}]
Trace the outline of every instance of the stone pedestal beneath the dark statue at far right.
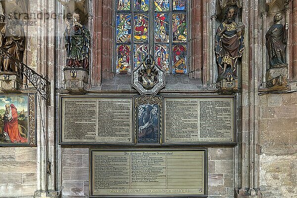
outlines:
[{"label": "stone pedestal beneath the dark statue at far right", "polygon": [[266,87],[273,90],[288,88],[288,66],[271,68],[266,72]]}]

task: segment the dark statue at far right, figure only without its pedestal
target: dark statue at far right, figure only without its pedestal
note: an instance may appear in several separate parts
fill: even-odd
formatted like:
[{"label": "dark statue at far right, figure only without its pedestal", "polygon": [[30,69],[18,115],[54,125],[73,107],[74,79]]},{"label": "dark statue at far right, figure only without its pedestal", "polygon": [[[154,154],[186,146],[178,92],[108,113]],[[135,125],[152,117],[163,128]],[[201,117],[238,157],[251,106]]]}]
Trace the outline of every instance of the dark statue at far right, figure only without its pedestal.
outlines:
[{"label": "dark statue at far right, figure only without its pedestal", "polygon": [[266,47],[269,56],[270,68],[285,67],[286,64],[286,45],[288,39],[288,23],[283,26],[281,20],[283,16],[278,13],[274,16],[274,24],[266,33]]}]

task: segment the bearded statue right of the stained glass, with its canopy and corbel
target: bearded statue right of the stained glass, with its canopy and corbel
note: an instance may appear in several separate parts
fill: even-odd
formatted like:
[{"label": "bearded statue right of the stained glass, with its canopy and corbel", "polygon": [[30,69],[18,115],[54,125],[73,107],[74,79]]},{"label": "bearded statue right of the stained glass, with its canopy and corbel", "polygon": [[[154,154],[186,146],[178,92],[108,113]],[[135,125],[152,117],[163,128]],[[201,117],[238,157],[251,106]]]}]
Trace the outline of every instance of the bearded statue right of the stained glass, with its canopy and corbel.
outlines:
[{"label": "bearded statue right of the stained glass, with its canopy and corbel", "polygon": [[221,7],[221,13],[217,17],[221,19],[221,23],[215,36],[214,51],[218,70],[216,87],[223,92],[236,92],[239,60],[245,49],[245,25],[235,22],[239,9],[237,0],[228,2],[223,2],[225,7]]}]

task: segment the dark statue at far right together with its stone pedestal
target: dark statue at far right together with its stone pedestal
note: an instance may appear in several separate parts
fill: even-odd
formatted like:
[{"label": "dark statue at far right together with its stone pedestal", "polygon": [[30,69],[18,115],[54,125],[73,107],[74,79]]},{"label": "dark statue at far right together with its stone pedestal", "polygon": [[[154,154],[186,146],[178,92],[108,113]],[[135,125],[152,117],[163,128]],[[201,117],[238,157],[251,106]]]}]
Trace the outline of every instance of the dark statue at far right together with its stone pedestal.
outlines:
[{"label": "dark statue at far right together with its stone pedestal", "polygon": [[285,88],[287,86],[288,64],[286,63],[286,45],[289,25],[281,24],[283,16],[277,13],[274,24],[266,33],[266,47],[269,57],[269,69],[266,73],[266,86],[268,88]]}]

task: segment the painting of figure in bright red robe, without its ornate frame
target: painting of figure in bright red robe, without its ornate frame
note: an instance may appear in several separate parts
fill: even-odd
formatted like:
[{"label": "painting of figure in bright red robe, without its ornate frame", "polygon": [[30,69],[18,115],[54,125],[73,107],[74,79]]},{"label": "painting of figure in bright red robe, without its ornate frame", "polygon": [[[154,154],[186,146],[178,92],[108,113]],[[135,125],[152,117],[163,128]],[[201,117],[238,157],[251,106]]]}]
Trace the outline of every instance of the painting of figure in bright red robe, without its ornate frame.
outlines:
[{"label": "painting of figure in bright red robe, without its ornate frame", "polygon": [[0,143],[28,143],[27,96],[0,96]]}]

